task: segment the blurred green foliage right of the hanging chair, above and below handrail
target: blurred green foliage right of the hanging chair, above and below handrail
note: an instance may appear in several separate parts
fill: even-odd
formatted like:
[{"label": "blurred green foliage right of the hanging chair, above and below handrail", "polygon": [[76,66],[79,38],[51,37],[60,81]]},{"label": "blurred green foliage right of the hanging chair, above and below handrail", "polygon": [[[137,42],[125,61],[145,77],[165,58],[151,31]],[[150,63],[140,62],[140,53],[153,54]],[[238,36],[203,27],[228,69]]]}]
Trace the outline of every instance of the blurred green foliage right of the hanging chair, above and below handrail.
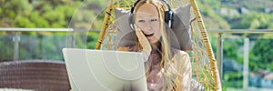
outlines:
[{"label": "blurred green foliage right of the hanging chair, above and below handrail", "polygon": [[[270,8],[273,2],[270,0],[202,0],[197,2],[203,20],[208,29],[272,29],[273,14],[272,11],[265,13],[266,8]],[[243,12],[242,9],[247,12]],[[227,15],[221,14],[221,10],[226,9]],[[272,7],[271,7],[272,9]],[[238,13],[236,15],[231,15]],[[229,14],[228,14],[229,13]],[[258,69],[273,71],[271,55],[272,49],[272,33],[254,35],[244,34],[242,38],[250,38],[249,48],[249,73]],[[244,40],[233,38],[236,35],[225,35],[223,57],[224,59],[235,60],[243,66],[243,47]],[[267,38],[267,39],[260,39]],[[211,38],[212,48],[216,53],[216,39]],[[214,45],[215,44],[215,45]],[[225,87],[242,87],[241,72],[224,73],[223,86]],[[228,78],[227,78],[228,77]],[[226,78],[226,79],[225,79]],[[233,80],[236,79],[236,80]]]}]

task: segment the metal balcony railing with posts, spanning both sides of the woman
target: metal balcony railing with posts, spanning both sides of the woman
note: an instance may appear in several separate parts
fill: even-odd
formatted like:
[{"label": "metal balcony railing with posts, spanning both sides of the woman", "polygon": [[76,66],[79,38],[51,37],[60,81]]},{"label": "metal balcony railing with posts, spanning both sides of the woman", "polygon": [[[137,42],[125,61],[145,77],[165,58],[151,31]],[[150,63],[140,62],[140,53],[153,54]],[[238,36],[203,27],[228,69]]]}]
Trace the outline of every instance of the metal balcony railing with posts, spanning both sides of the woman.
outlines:
[{"label": "metal balcony railing with posts, spanning both sides of the woman", "polygon": [[[96,32],[98,33],[99,29],[72,29],[72,28],[0,28],[0,32],[13,32],[13,42],[14,42],[14,60],[19,59],[19,41],[20,41],[20,35],[19,32],[67,32],[72,33],[71,38],[69,39],[71,47],[75,46],[75,35],[73,35],[73,32]],[[226,34],[273,34],[273,29],[208,29],[207,30],[209,34],[209,38],[211,38],[211,34],[217,34],[217,62],[218,62],[218,70],[220,73],[220,76],[222,78],[223,75],[223,46],[224,44],[224,37],[226,37]],[[244,38],[244,64],[243,64],[243,87],[248,87],[248,54],[249,54],[249,37],[248,36],[240,36],[241,38]],[[272,37],[273,38],[273,37]],[[67,45],[67,44],[66,44]]]}]

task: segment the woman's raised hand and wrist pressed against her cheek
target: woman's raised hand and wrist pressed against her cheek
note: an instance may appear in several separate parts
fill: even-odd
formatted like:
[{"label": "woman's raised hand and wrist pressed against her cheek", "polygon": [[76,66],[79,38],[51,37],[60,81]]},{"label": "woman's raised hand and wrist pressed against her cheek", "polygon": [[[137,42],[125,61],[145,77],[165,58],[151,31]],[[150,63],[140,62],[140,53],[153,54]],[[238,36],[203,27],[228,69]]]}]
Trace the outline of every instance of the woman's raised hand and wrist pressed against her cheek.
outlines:
[{"label": "woman's raised hand and wrist pressed against her cheek", "polygon": [[137,25],[134,25],[134,26],[136,29],[136,37],[139,41],[139,44],[143,48],[142,51],[146,52],[147,56],[150,56],[151,51],[152,51],[152,47],[151,47],[149,41],[147,40],[147,37],[143,34],[142,30]]}]

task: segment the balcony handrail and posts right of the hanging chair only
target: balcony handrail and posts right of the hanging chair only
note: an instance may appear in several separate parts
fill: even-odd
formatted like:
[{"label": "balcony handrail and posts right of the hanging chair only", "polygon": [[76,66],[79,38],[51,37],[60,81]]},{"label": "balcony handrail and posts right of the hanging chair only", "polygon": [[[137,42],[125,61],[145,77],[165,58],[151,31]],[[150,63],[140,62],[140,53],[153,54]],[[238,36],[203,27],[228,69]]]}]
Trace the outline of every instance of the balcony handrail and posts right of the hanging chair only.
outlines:
[{"label": "balcony handrail and posts right of the hanging chair only", "polygon": [[[223,77],[223,46],[225,34],[273,34],[273,29],[212,29],[207,31],[209,34],[217,34],[217,62],[220,77]],[[243,64],[243,89],[248,87],[248,55],[249,55],[249,37],[244,36],[244,64]],[[273,39],[273,37],[271,37]]]}]

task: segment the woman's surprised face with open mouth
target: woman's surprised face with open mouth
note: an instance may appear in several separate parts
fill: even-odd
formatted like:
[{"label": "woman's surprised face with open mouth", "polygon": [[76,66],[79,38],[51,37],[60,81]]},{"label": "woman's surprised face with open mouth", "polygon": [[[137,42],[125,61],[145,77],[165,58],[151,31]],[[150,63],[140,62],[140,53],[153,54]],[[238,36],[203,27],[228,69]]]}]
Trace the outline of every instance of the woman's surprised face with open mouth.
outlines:
[{"label": "woman's surprised face with open mouth", "polygon": [[150,44],[156,44],[161,37],[157,7],[152,4],[141,5],[136,11],[135,24],[146,35]]}]

